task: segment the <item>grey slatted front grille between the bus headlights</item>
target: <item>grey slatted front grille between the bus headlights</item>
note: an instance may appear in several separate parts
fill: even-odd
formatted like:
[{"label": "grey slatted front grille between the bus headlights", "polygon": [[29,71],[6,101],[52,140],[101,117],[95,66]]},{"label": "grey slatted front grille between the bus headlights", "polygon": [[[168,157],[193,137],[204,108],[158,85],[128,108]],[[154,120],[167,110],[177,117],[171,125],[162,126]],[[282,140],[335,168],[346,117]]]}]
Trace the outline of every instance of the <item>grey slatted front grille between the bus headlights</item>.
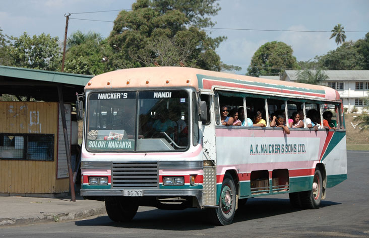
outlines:
[{"label": "grey slatted front grille between the bus headlights", "polygon": [[112,162],[112,188],[158,188],[159,170],[157,162]]}]

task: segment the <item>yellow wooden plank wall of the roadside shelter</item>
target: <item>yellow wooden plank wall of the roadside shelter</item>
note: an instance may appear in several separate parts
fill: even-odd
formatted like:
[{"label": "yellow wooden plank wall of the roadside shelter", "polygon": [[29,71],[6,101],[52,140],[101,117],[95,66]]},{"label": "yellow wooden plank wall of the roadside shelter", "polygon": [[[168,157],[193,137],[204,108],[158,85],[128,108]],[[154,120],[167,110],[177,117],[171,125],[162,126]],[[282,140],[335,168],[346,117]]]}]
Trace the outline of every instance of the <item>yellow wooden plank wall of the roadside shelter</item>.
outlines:
[{"label": "yellow wooden plank wall of the roadside shelter", "polygon": [[0,102],[0,133],[54,134],[53,161],[0,159],[0,193],[69,191],[68,178],[56,179],[57,125],[58,103]]}]

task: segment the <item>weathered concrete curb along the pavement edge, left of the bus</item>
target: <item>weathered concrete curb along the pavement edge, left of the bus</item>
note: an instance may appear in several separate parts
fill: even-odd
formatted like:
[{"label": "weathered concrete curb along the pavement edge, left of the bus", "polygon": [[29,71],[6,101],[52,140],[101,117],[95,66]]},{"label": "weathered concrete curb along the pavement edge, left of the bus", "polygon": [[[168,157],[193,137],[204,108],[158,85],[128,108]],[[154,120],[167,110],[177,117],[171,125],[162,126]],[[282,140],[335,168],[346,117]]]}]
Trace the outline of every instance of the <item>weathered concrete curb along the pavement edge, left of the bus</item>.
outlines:
[{"label": "weathered concrete curb along the pavement edge, left of the bus", "polygon": [[42,222],[61,222],[86,218],[106,213],[105,207],[91,208],[79,212],[47,213],[34,217],[0,218],[0,227],[11,225],[27,225]]}]

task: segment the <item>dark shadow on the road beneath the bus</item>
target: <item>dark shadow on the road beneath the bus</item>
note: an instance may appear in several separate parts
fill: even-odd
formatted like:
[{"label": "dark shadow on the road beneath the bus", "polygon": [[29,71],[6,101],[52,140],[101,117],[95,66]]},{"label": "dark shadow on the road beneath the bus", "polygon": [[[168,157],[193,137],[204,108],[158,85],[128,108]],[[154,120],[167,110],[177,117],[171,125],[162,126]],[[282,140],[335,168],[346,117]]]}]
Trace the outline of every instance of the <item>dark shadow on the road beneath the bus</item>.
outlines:
[{"label": "dark shadow on the road beneath the bus", "polygon": [[[321,207],[340,203],[322,201]],[[238,207],[233,223],[288,214],[300,210],[292,208],[289,199],[257,198]],[[113,222],[108,216],[76,221],[78,226],[113,226],[124,228],[160,229],[160,230],[203,230],[214,227],[209,222],[208,213],[204,209],[188,208],[184,210],[149,210],[137,212],[130,222]]]}]

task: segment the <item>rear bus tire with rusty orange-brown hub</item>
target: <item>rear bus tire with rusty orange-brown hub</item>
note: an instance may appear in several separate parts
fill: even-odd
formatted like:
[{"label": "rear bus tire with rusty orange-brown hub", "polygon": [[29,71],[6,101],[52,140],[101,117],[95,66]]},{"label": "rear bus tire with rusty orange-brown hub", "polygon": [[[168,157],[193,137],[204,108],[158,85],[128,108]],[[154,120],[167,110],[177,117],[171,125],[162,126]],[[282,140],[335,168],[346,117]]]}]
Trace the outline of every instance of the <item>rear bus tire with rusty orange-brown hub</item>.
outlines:
[{"label": "rear bus tire with rusty orange-brown hub", "polygon": [[318,168],[315,169],[313,188],[310,191],[300,192],[302,207],[305,209],[318,209],[322,201],[323,179]]}]

